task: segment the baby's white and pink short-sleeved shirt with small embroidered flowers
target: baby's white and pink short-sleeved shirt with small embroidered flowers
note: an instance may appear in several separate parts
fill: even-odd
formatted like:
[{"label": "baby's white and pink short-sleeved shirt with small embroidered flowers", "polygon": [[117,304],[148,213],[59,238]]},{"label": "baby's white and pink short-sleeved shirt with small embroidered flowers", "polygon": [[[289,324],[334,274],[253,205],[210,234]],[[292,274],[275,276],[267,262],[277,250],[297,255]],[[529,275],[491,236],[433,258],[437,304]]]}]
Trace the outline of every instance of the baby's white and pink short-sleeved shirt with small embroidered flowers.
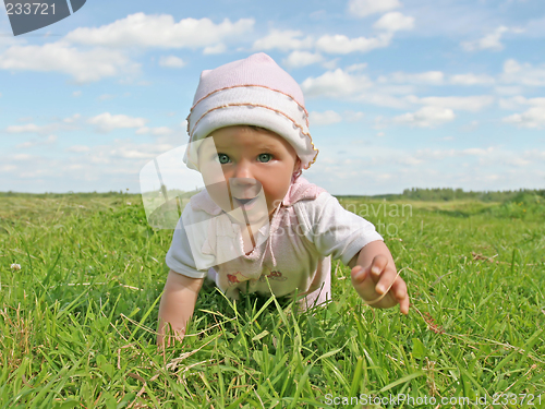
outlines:
[{"label": "baby's white and pink short-sleeved shirt with small embroidered flowers", "polygon": [[371,222],[303,177],[290,185],[270,226],[257,233],[262,244],[247,255],[240,229],[203,191],[183,210],[167,265],[193,278],[206,277],[210,269],[228,297],[246,290],[272,290],[278,297],[298,292],[311,305],[330,298],[331,257],[348,264],[364,245],[383,240]]}]

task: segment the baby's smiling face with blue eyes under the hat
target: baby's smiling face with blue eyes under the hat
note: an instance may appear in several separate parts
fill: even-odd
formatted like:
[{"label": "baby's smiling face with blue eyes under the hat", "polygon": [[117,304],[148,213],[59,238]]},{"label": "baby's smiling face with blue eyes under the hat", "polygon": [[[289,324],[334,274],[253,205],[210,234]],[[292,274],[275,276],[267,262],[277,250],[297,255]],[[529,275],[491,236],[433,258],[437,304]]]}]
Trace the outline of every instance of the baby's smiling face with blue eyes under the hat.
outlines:
[{"label": "baby's smiling face with blue eyes under the hat", "polygon": [[203,143],[198,163],[210,197],[225,212],[244,209],[251,224],[268,221],[290,187],[295,149],[274,132],[244,125],[208,137],[214,144]]}]

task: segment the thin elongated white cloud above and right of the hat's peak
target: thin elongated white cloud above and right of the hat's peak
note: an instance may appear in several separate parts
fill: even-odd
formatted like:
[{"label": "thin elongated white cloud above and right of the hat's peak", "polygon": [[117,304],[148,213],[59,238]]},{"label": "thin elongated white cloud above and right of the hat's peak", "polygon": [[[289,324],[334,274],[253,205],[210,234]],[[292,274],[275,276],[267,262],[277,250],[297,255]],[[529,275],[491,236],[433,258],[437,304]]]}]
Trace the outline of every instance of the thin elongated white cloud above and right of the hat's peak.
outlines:
[{"label": "thin elongated white cloud above and right of the hat's peak", "polygon": [[316,48],[327,53],[347,55],[355,51],[367,52],[375,48],[388,47],[391,38],[391,33],[380,34],[372,38],[349,38],[341,34],[334,36],[325,35],[318,38]]}]

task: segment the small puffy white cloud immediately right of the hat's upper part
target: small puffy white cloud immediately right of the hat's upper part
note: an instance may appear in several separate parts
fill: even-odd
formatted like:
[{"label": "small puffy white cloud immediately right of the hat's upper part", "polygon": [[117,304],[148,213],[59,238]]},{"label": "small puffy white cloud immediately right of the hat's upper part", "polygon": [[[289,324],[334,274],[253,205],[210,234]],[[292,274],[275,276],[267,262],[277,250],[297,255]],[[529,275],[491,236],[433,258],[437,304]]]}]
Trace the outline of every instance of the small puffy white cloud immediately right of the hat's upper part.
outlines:
[{"label": "small puffy white cloud immediately right of the hat's upper part", "polygon": [[365,75],[351,75],[341,69],[327,71],[318,77],[307,77],[301,84],[303,93],[308,97],[347,97],[372,86]]}]

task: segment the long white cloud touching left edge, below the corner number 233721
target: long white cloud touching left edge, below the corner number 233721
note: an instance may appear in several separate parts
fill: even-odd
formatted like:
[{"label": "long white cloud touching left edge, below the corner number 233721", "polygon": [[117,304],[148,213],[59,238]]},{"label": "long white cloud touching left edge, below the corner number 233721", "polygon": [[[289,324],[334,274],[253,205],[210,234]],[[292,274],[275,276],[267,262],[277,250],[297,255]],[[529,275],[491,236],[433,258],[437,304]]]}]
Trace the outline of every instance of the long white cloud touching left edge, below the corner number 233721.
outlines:
[{"label": "long white cloud touching left edge, below the corner number 233721", "polygon": [[135,74],[140,64],[117,50],[95,48],[81,51],[65,41],[58,41],[43,46],[13,46],[0,55],[0,69],[61,72],[77,83],[87,83],[107,76]]}]

